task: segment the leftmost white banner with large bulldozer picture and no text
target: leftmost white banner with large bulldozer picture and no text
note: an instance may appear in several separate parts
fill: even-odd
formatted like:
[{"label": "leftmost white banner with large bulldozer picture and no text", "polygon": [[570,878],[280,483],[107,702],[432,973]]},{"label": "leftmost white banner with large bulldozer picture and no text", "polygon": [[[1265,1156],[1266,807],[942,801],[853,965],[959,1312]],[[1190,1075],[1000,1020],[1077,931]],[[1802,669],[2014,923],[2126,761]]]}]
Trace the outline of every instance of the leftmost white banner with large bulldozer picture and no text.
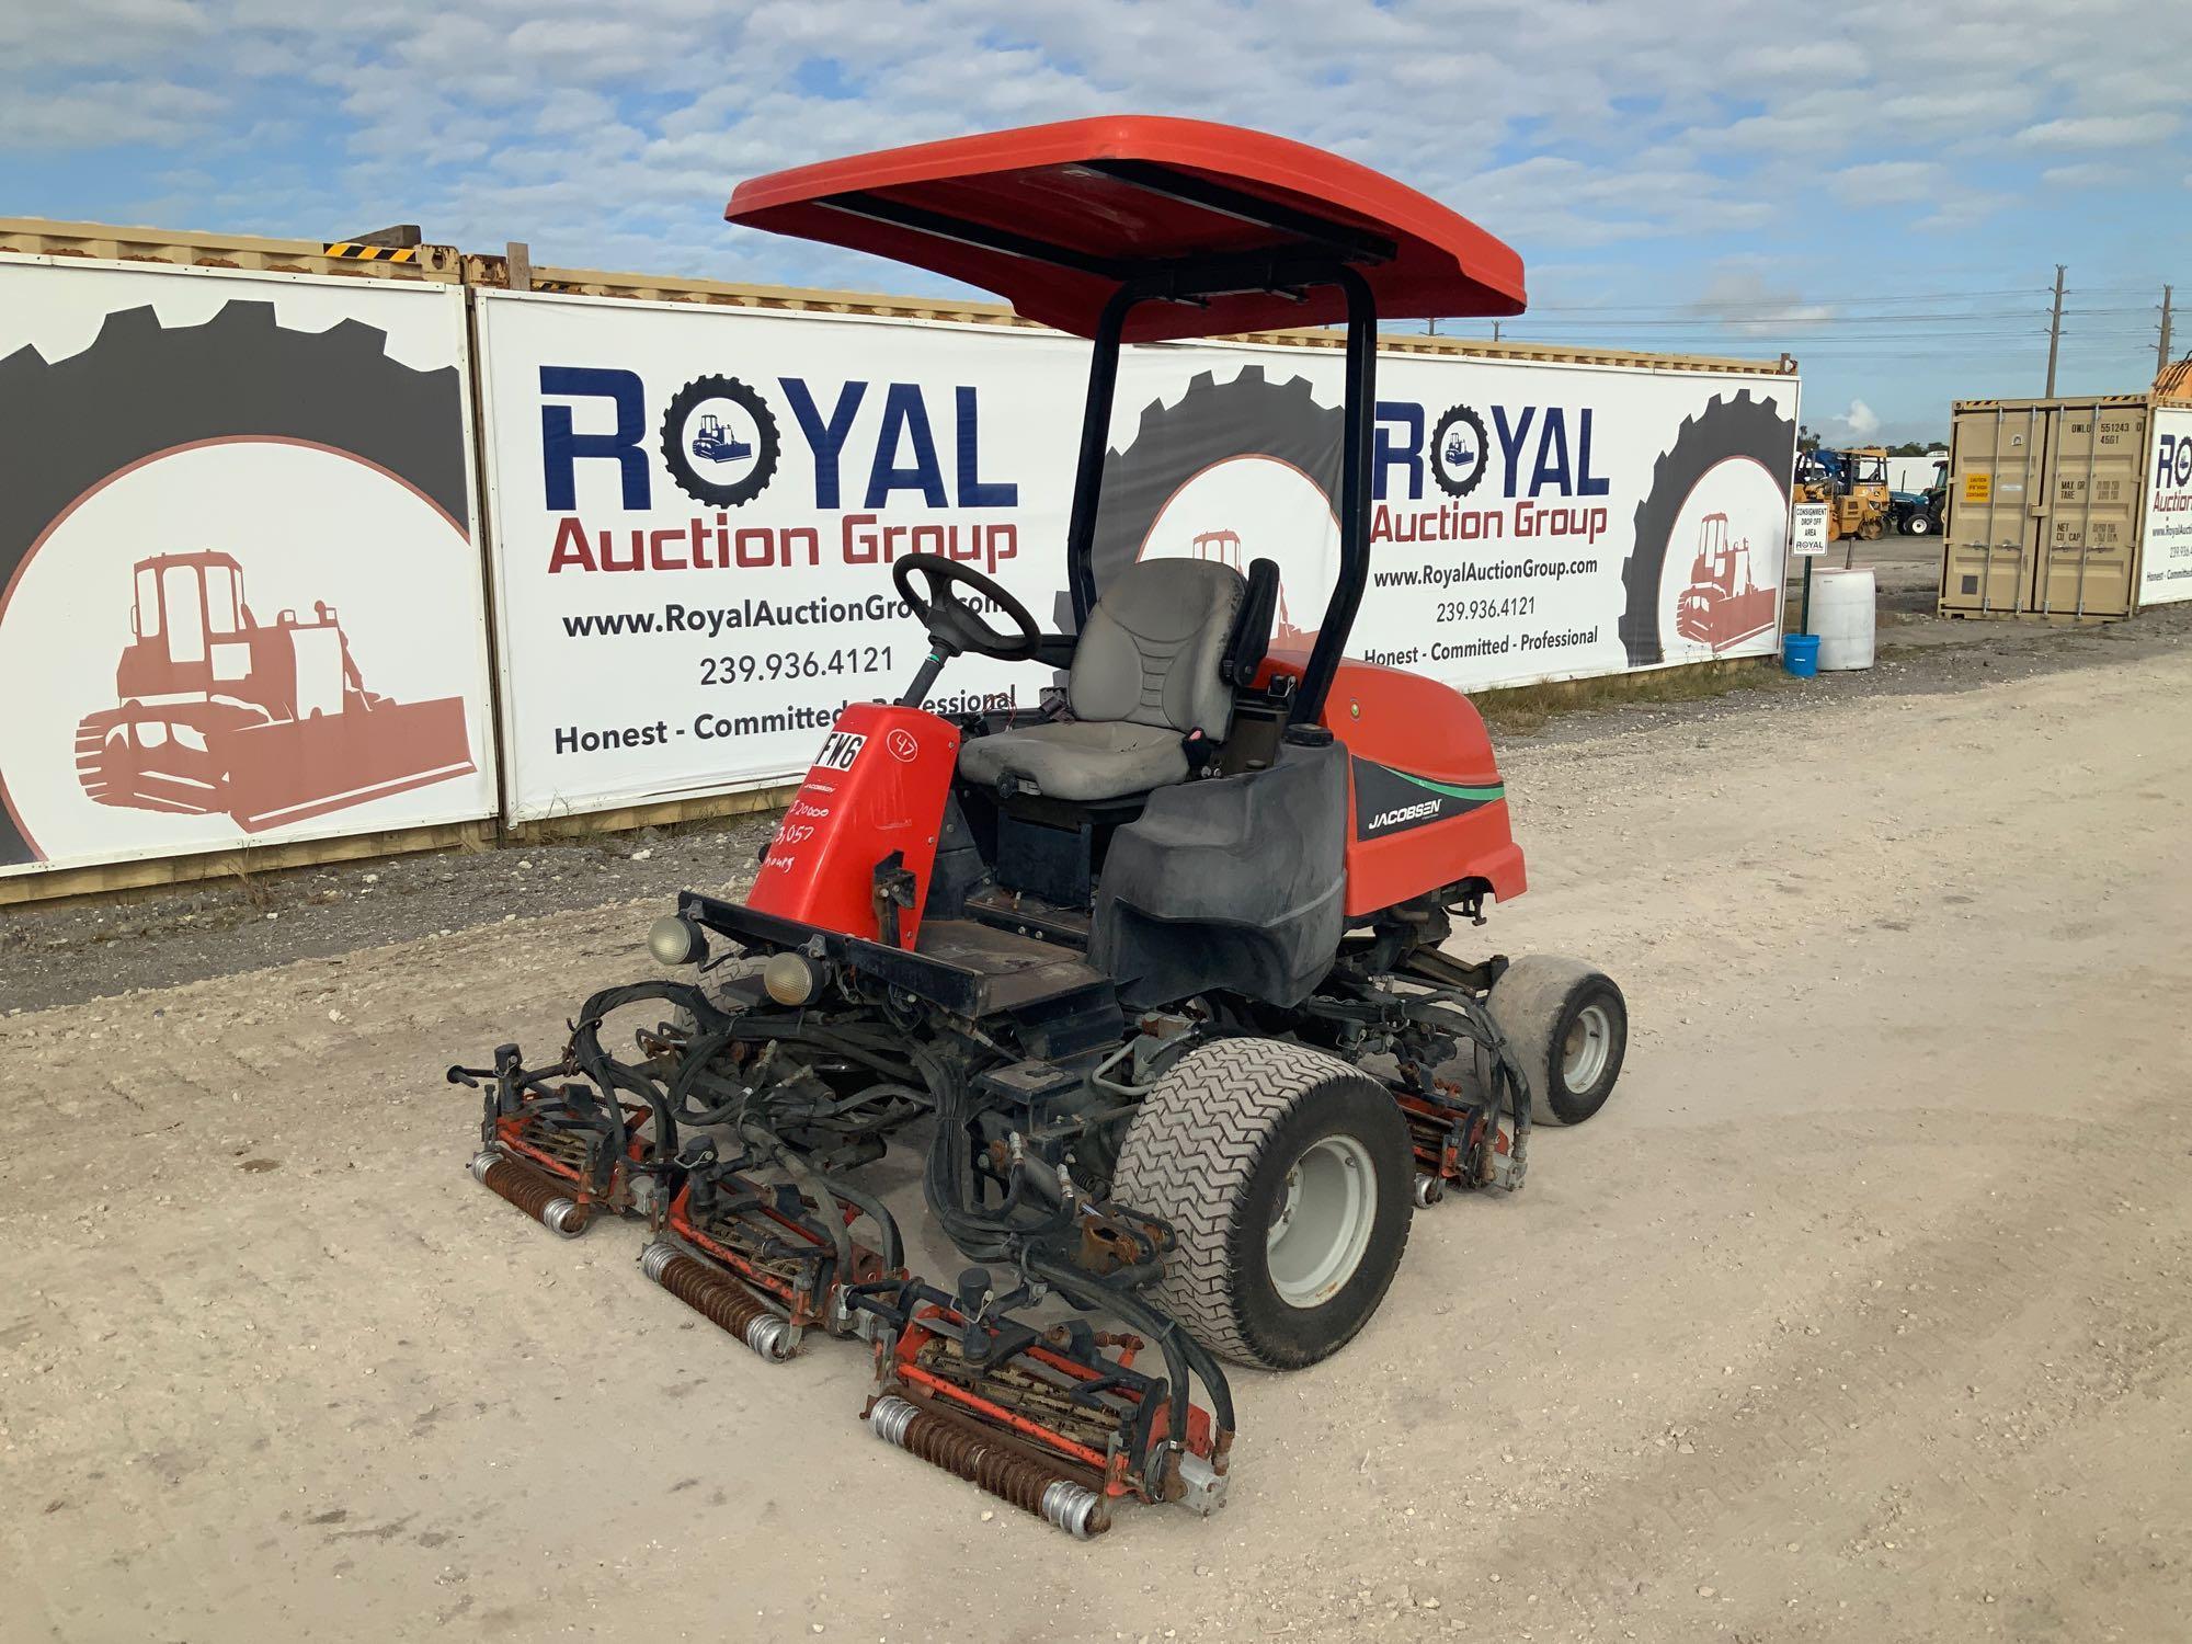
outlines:
[{"label": "leftmost white banner with large bulldozer picture and no text", "polygon": [[0,263],[0,872],[493,815],[465,300]]}]

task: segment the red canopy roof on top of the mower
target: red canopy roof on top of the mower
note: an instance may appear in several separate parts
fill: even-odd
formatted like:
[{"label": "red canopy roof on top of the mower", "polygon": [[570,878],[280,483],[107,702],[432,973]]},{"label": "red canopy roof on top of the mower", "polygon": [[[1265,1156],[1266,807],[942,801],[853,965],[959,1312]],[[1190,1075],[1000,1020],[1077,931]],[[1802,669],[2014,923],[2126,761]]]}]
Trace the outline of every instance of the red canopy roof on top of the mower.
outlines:
[{"label": "red canopy roof on top of the mower", "polygon": [[[1118,114],[824,160],[741,182],[723,215],[980,285],[1083,338],[1124,281],[1168,270],[1208,281],[1225,265],[1212,259],[1238,259],[1258,285],[1337,256],[1385,320],[1523,309],[1521,259],[1466,217],[1352,160],[1208,121]],[[1140,302],[1124,335],[1344,316],[1337,287],[1304,281]]]}]

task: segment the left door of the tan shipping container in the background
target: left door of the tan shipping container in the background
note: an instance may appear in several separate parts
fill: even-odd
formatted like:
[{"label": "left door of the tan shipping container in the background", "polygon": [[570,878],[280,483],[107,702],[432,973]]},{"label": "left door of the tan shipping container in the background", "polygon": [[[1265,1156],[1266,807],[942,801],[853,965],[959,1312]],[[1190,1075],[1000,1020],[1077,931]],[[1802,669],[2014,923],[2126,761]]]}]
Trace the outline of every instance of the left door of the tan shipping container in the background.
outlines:
[{"label": "left door of the tan shipping container in the background", "polygon": [[1966,410],[1949,438],[1949,520],[1942,530],[1940,609],[2014,616],[2030,607],[2047,412],[2036,406]]}]

